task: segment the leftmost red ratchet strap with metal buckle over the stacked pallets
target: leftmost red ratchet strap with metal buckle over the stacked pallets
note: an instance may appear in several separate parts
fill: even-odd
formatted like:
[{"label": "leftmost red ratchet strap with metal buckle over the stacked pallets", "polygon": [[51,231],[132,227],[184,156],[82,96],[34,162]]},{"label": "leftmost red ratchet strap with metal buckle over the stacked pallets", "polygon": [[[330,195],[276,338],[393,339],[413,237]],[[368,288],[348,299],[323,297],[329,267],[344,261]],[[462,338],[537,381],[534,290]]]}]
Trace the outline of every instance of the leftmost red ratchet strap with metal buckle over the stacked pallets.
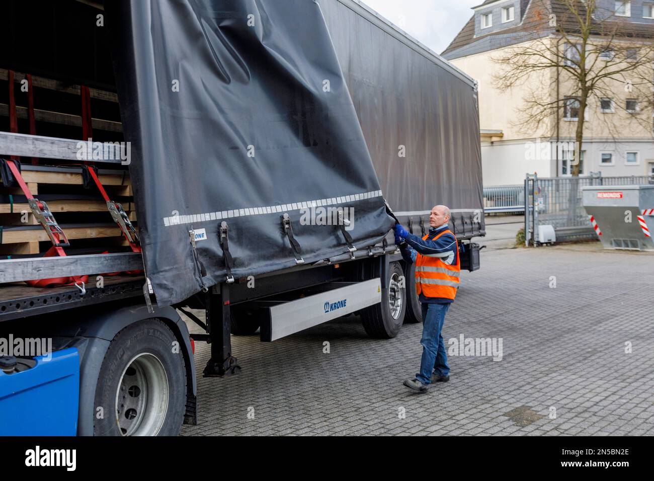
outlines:
[{"label": "leftmost red ratchet strap with metal buckle over the stacked pallets", "polygon": [[[48,237],[50,238],[50,241],[52,241],[52,247],[50,247],[48,252],[45,253],[44,257],[66,257],[66,253],[63,251],[63,247],[68,247],[70,243],[66,237],[66,234],[63,233],[63,230],[61,230],[59,224],[54,219],[54,215],[52,215],[52,212],[50,212],[50,209],[48,209],[48,204],[35,198],[29,191],[29,187],[27,187],[23,176],[20,175],[17,160],[5,160],[4,162],[6,162],[9,171],[14,176],[14,179],[16,179],[16,182],[25,194],[27,203],[29,204],[29,209],[32,211],[37,221],[39,221],[39,224],[41,224],[45,229]],[[26,283],[33,287],[49,287],[54,285],[75,284],[82,291],[82,294],[84,294],[86,293],[84,288],[86,281],[88,281],[88,276],[71,276],[26,281]]]}]

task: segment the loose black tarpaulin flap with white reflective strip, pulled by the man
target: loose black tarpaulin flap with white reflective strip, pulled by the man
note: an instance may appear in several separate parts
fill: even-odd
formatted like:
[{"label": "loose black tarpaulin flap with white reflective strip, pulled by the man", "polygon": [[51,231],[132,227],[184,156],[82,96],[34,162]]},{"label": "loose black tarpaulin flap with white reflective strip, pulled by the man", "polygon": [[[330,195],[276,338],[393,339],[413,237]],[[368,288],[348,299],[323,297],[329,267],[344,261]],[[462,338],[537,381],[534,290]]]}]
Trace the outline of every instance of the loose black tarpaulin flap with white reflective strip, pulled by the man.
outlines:
[{"label": "loose black tarpaulin flap with white reflective strip, pulled by the man", "polygon": [[106,7],[146,274],[160,306],[226,280],[223,221],[233,277],[347,253],[343,230],[320,207],[345,208],[359,249],[392,228],[317,2]]}]

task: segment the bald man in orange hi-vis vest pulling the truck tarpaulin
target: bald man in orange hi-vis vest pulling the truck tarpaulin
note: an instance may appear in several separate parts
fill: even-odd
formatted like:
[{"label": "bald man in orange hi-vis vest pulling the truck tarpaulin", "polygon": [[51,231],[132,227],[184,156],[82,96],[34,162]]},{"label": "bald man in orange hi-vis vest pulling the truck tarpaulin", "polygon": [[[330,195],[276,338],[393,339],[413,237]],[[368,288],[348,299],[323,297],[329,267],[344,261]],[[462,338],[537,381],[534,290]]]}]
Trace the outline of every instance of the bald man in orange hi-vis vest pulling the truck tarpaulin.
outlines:
[{"label": "bald man in orange hi-vis vest pulling the truck tarpaulin", "polygon": [[[429,215],[428,234],[419,238],[400,224],[395,226],[395,243],[402,258],[415,262],[415,285],[422,304],[422,359],[420,372],[404,385],[426,393],[432,382],[449,381],[447,351],[441,334],[445,314],[456,297],[460,263],[458,243],[449,230],[450,209],[436,205]],[[410,281],[410,279],[409,279]]]}]

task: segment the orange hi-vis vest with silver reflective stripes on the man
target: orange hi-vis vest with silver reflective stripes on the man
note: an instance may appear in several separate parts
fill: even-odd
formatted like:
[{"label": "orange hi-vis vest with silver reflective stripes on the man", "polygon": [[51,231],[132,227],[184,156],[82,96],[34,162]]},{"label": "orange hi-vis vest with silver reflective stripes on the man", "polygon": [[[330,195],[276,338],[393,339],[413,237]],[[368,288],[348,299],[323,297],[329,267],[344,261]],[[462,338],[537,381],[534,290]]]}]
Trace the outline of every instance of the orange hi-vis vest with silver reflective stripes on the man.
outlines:
[{"label": "orange hi-vis vest with silver reflective stripes on the man", "polygon": [[[443,234],[452,234],[452,231],[445,229],[443,232],[439,232],[432,240],[438,239]],[[427,240],[428,237],[429,234],[426,234],[422,240]],[[456,247],[456,264],[451,266],[445,264],[440,257],[417,253],[415,259],[415,289],[418,294],[422,293],[426,297],[440,297],[454,300],[456,290],[458,289],[460,272],[461,266],[458,260],[458,245]]]}]

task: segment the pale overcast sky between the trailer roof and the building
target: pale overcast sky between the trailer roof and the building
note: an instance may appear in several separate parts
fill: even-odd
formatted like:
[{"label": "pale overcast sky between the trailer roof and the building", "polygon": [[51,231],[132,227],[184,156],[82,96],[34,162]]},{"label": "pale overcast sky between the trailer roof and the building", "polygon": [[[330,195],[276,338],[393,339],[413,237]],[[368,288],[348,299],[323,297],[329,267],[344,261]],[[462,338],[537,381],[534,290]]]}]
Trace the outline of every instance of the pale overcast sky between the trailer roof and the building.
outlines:
[{"label": "pale overcast sky between the trailer roof and the building", "polygon": [[447,48],[483,0],[362,0],[437,54]]}]

